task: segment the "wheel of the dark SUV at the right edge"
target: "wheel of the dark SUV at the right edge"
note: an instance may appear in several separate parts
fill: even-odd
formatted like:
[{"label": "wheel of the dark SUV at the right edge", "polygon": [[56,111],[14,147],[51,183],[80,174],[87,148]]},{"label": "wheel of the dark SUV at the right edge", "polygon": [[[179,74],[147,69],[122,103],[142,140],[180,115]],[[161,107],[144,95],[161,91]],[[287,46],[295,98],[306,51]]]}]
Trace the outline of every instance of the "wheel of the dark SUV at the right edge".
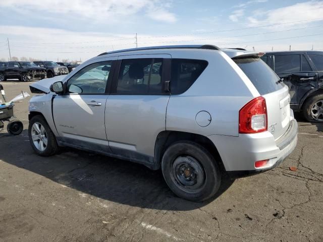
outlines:
[{"label": "wheel of the dark SUV at the right edge", "polygon": [[323,94],[309,97],[303,105],[303,115],[308,122],[323,122]]}]

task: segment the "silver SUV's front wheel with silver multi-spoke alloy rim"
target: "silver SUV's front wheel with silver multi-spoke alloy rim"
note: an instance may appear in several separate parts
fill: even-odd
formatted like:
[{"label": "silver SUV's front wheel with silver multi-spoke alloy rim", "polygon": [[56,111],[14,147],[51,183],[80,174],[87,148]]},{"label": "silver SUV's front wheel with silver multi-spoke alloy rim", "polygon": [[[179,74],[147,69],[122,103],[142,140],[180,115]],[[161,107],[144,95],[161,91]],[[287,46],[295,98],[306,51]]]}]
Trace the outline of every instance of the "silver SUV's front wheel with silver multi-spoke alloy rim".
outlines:
[{"label": "silver SUV's front wheel with silver multi-spoke alloy rim", "polygon": [[33,150],[40,156],[51,156],[58,152],[56,137],[41,115],[31,118],[28,128],[29,142]]}]

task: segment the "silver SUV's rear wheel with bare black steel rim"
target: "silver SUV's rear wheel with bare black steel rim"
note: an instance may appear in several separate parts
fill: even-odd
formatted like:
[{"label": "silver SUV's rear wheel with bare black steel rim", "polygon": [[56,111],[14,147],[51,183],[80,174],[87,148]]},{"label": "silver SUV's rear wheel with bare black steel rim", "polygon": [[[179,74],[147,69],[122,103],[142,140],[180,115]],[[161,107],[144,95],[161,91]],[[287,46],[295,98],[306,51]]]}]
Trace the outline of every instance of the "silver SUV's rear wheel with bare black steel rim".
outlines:
[{"label": "silver SUV's rear wheel with bare black steel rim", "polygon": [[214,196],[220,188],[221,172],[213,156],[197,143],[171,145],[161,160],[169,188],[179,197],[199,202]]}]

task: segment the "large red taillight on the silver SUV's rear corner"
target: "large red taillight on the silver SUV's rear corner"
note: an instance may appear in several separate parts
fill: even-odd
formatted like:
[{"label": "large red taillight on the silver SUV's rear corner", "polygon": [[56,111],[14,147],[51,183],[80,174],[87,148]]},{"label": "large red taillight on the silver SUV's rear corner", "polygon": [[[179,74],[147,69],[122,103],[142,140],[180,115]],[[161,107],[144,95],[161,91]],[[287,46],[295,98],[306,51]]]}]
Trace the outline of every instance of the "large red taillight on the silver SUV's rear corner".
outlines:
[{"label": "large red taillight on the silver SUV's rear corner", "polygon": [[254,134],[267,130],[267,107],[263,97],[256,97],[239,111],[239,133]]}]

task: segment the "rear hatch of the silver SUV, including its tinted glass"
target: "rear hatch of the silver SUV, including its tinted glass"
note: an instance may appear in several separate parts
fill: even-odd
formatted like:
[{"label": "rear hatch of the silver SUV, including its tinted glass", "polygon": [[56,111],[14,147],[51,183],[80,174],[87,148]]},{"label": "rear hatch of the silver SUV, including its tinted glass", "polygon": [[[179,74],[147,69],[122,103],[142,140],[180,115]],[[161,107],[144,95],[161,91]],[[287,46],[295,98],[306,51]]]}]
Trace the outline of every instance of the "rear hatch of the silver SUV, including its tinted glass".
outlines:
[{"label": "rear hatch of the silver SUV, including its tinted glass", "polygon": [[267,127],[275,140],[281,137],[290,125],[290,95],[288,87],[259,57],[237,56],[233,61],[246,74],[259,94],[265,98]]}]

